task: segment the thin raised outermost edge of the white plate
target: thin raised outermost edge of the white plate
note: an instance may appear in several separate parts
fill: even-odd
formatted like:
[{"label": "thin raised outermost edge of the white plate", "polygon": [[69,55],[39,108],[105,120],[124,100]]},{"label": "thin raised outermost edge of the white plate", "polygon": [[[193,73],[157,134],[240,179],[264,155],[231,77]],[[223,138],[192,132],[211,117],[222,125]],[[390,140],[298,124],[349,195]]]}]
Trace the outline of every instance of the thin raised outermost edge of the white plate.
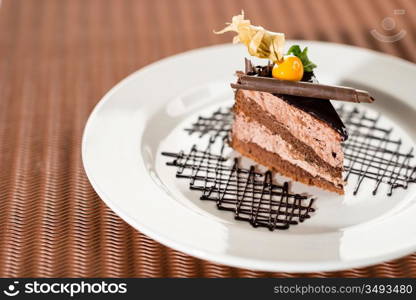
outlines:
[{"label": "thin raised outermost edge of the white plate", "polygon": [[[288,42],[297,42],[288,40]],[[318,43],[318,44],[325,44],[325,45],[331,45],[336,47],[347,47],[352,48],[360,51],[366,51],[368,53],[371,53],[373,55],[382,56],[384,58],[388,58],[390,60],[395,60],[396,63],[406,65],[407,67],[415,68],[416,65],[413,64],[410,61],[404,60],[399,57],[391,56],[382,52],[374,51],[367,48],[361,48],[346,44],[340,44],[340,43],[331,43],[331,42],[320,42],[320,41],[308,41],[308,40],[302,40],[299,41],[302,43]],[[147,235],[151,239],[155,240],[156,242],[159,242],[167,247],[170,247],[172,249],[181,251],[187,255],[191,255],[200,259],[208,260],[214,263],[237,267],[237,268],[246,268],[256,271],[268,271],[268,272],[323,272],[323,271],[340,271],[350,268],[357,268],[357,267],[367,267],[370,265],[374,265],[377,263],[382,263],[385,261],[389,261],[391,259],[399,258],[404,255],[410,254],[414,251],[416,251],[416,244],[413,246],[409,246],[406,248],[401,249],[400,251],[394,251],[390,253],[389,255],[378,255],[365,259],[355,259],[355,260],[328,260],[325,263],[319,261],[319,262],[306,262],[302,261],[300,264],[299,262],[285,262],[285,261],[273,261],[271,263],[270,261],[259,261],[257,259],[250,259],[250,258],[242,258],[242,257],[235,257],[233,255],[229,255],[228,253],[222,253],[221,255],[218,255],[216,253],[210,253],[209,251],[201,252],[196,249],[190,249],[186,247],[186,245],[182,245],[181,243],[176,242],[175,240],[172,240],[164,234],[157,233],[153,231],[152,229],[148,228],[146,224],[140,223],[137,220],[133,220],[132,217],[130,217],[127,213],[121,209],[115,201],[111,200],[103,191],[99,184],[95,181],[93,176],[93,171],[90,170],[88,166],[88,162],[86,159],[86,147],[87,147],[87,136],[89,128],[93,126],[94,119],[96,119],[96,116],[101,109],[102,106],[104,106],[108,101],[110,101],[113,94],[117,93],[120,89],[122,89],[126,84],[128,84],[130,81],[134,80],[135,77],[142,73],[146,72],[147,70],[151,70],[152,68],[159,66],[163,64],[166,61],[177,59],[179,57],[187,56],[194,52],[199,52],[202,50],[208,50],[213,48],[222,48],[222,47],[230,47],[232,44],[225,43],[225,44],[217,44],[212,45],[208,47],[201,47],[197,49],[192,49],[189,51],[185,51],[182,53],[178,53],[172,56],[165,57],[161,60],[155,61],[149,65],[146,65],[137,71],[134,71],[130,75],[123,78],[121,81],[119,81],[117,84],[115,84],[108,92],[105,93],[105,95],[97,102],[93,110],[91,111],[87,122],[84,127],[83,135],[82,135],[82,145],[81,145],[81,157],[82,157],[82,163],[85,170],[85,173],[87,175],[88,180],[91,183],[91,186],[95,190],[95,192],[98,194],[98,196],[101,198],[104,203],[115,212],[116,215],[118,215],[121,219],[126,221],[130,226],[135,228],[136,230],[140,231],[141,233]]]}]

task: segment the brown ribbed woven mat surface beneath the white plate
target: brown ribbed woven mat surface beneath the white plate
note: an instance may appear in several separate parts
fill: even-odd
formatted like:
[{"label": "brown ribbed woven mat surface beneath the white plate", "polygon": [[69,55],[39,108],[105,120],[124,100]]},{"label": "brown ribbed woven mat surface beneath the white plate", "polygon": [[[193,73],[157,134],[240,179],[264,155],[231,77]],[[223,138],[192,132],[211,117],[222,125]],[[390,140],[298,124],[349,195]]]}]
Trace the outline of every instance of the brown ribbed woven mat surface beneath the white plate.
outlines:
[{"label": "brown ribbed woven mat surface beneath the white plate", "polygon": [[[195,259],[118,218],[89,184],[81,136],[97,101],[163,57],[230,41],[242,8],[290,39],[371,48],[416,62],[414,0],[4,0],[0,8],[0,276],[416,276],[416,254],[343,272],[264,273]],[[407,35],[370,35],[396,16]],[[386,33],[386,32],[385,32]],[[330,58],[328,58],[330,59]],[[203,70],[201,70],[203,72]],[[162,74],[163,75],[163,74]]]}]

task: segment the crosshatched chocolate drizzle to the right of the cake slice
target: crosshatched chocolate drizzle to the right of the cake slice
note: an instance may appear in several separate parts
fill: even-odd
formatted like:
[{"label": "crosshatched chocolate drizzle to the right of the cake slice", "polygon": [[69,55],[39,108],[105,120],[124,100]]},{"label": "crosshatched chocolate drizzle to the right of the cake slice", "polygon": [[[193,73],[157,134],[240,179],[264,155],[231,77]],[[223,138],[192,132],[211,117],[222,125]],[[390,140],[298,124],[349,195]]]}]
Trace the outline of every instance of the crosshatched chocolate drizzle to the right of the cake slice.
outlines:
[{"label": "crosshatched chocolate drizzle to the right of the cake slice", "polygon": [[[378,125],[380,115],[371,117],[357,108],[337,109],[349,131],[349,139],[343,144],[345,180],[351,174],[357,175],[354,195],[364,181],[372,181],[372,194],[375,195],[381,184],[387,184],[387,195],[396,188],[407,189],[409,183],[416,182],[416,165],[411,164],[413,147],[402,150],[401,138],[395,137],[393,128]],[[351,184],[352,182],[349,182]]]}]

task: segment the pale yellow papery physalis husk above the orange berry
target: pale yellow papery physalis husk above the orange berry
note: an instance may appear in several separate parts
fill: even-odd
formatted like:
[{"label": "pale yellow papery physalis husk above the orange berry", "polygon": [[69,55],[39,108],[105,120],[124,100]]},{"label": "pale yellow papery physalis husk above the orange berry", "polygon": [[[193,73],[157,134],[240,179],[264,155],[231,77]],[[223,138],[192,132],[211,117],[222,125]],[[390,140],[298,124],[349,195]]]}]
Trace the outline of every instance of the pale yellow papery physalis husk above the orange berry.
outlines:
[{"label": "pale yellow papery physalis husk above the orange berry", "polygon": [[247,46],[250,55],[259,58],[268,58],[272,62],[279,62],[283,59],[285,35],[280,32],[271,32],[263,27],[251,25],[250,20],[244,20],[244,12],[234,16],[231,23],[227,23],[221,31],[216,34],[223,34],[229,31],[238,33],[233,43],[243,43]]}]

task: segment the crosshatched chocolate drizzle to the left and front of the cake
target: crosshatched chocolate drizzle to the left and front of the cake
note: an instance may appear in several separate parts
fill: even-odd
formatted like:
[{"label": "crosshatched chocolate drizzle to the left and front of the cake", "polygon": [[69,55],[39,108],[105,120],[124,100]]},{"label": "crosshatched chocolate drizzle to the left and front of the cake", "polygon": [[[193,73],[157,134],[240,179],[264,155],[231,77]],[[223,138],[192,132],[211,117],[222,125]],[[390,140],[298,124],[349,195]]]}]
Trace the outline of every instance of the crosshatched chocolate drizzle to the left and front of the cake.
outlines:
[{"label": "crosshatched chocolate drizzle to the left and front of the cake", "polygon": [[[201,200],[215,201],[218,209],[234,212],[236,220],[247,221],[253,227],[267,227],[271,231],[288,229],[310,218],[310,213],[315,211],[314,199],[290,193],[288,182],[273,183],[271,171],[258,172],[254,166],[242,168],[238,158],[233,159],[232,165],[227,163],[229,158],[224,155],[228,147],[227,132],[215,130],[219,127],[212,127],[211,122],[224,120],[217,117],[228,118],[230,114],[229,110],[217,111],[209,118],[208,127],[207,119],[201,118],[199,121],[204,125],[198,123],[199,129],[190,130],[202,135],[213,133],[205,150],[193,145],[189,153],[162,153],[173,158],[167,165],[177,167],[176,177],[189,179],[190,189],[202,192]],[[212,145],[220,137],[221,150],[213,153]]]}]

